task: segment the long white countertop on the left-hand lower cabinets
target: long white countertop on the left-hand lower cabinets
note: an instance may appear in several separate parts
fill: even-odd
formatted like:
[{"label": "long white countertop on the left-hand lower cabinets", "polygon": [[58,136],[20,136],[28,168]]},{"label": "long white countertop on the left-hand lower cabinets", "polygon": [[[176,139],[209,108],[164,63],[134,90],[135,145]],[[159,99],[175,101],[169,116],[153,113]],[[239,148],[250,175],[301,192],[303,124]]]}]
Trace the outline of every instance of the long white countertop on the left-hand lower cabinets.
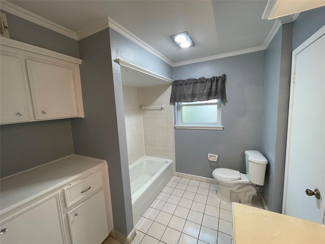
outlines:
[{"label": "long white countertop on the left-hand lower cabinets", "polygon": [[102,164],[106,161],[71,155],[0,179],[0,209],[54,189],[56,185],[71,181],[76,175]]}]

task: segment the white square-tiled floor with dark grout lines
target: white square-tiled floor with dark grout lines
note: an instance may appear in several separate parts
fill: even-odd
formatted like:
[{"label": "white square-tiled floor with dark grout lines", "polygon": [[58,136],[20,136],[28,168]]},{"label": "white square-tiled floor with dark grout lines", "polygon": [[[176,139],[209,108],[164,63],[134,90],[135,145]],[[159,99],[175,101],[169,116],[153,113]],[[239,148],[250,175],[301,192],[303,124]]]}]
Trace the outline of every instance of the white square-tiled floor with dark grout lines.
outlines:
[{"label": "white square-tiled floor with dark grout lines", "polygon": [[[132,244],[231,244],[232,206],[217,185],[173,176],[135,226]],[[263,208],[257,196],[253,206]],[[108,237],[103,244],[121,244]]]}]

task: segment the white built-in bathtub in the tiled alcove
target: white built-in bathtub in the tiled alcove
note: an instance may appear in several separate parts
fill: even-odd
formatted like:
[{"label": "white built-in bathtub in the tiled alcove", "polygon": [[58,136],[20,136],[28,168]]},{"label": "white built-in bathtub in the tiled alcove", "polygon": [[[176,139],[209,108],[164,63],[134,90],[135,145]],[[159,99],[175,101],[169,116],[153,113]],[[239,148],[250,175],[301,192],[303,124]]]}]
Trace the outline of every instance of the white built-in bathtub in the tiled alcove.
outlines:
[{"label": "white built-in bathtub in the tiled alcove", "polygon": [[134,225],[173,175],[173,161],[144,156],[129,166]]}]

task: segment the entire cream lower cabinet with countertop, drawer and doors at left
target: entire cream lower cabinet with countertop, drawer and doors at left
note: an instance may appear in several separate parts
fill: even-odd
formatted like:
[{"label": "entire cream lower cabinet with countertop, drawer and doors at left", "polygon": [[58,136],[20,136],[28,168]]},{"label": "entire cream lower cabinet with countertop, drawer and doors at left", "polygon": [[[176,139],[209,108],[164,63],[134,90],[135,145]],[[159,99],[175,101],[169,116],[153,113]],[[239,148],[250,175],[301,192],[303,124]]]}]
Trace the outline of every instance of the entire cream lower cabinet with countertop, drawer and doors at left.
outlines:
[{"label": "entire cream lower cabinet with countertop, drawer and doors at left", "polygon": [[113,229],[107,162],[68,156],[0,180],[0,243],[100,244]]}]

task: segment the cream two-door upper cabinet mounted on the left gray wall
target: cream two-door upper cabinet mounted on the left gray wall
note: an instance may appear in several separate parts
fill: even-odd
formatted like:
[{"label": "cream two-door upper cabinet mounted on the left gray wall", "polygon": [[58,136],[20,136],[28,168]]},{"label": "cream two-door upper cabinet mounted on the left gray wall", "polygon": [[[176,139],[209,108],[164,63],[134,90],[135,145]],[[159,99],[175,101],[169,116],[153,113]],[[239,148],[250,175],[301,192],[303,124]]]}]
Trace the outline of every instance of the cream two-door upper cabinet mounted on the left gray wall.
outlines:
[{"label": "cream two-door upper cabinet mounted on the left gray wall", "polygon": [[1,124],[84,117],[82,60],[1,38]]}]

